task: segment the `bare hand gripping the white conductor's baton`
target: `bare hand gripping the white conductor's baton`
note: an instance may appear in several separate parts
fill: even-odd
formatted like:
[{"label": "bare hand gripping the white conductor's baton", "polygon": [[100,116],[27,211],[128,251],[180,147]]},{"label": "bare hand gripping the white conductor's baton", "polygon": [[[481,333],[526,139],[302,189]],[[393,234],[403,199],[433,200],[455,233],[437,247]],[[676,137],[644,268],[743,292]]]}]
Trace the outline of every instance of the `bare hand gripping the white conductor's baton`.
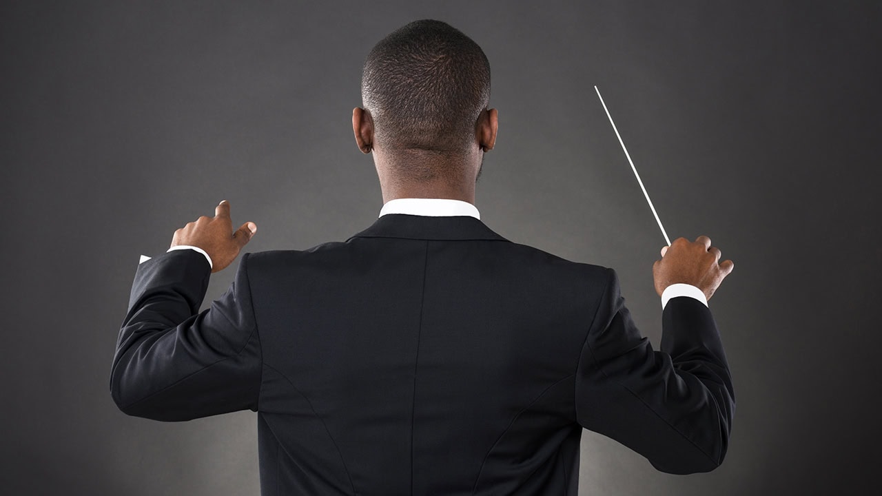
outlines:
[{"label": "bare hand gripping the white conductor's baton", "polygon": [[653,265],[655,291],[661,297],[662,291],[671,284],[691,284],[710,300],[735,267],[732,260],[720,263],[720,257],[720,249],[711,246],[709,237],[699,236],[694,242],[684,237],[675,239],[670,246],[662,248],[662,259]]}]

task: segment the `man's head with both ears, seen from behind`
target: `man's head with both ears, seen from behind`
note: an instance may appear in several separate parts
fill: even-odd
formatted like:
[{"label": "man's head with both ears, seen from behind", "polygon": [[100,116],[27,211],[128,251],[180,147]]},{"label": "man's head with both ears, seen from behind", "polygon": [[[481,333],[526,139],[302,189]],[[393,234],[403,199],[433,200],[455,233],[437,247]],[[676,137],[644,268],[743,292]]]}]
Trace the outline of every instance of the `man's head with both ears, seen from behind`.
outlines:
[{"label": "man's head with both ears, seen from behind", "polygon": [[456,164],[475,157],[477,171],[496,139],[487,56],[444,22],[418,20],[379,41],[364,63],[362,100],[355,139],[365,153],[382,151],[398,180],[461,174]]}]

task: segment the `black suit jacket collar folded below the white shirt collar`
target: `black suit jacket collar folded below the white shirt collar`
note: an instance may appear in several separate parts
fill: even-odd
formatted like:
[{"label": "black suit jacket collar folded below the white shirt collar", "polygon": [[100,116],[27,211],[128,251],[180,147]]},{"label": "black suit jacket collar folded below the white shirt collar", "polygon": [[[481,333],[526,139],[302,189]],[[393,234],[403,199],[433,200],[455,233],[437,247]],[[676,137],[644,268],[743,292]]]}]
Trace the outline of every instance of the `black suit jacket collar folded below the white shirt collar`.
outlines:
[{"label": "black suit jacket collar folded below the white shirt collar", "polygon": [[[508,241],[475,217],[457,215],[430,217],[411,214],[385,214],[368,229],[353,237],[400,237],[406,239],[436,239],[464,241],[487,239]],[[352,239],[350,237],[349,239]]]}]

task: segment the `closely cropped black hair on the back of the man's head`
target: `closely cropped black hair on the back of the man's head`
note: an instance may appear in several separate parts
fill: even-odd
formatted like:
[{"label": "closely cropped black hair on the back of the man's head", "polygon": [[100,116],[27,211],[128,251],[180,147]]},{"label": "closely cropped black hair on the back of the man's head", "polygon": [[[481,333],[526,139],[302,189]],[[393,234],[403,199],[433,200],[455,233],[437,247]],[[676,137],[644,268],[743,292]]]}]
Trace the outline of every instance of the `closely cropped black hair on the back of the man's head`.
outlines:
[{"label": "closely cropped black hair on the back of the man's head", "polygon": [[454,27],[417,20],[370,50],[362,100],[373,117],[377,144],[461,153],[474,142],[478,116],[490,101],[490,62]]}]

